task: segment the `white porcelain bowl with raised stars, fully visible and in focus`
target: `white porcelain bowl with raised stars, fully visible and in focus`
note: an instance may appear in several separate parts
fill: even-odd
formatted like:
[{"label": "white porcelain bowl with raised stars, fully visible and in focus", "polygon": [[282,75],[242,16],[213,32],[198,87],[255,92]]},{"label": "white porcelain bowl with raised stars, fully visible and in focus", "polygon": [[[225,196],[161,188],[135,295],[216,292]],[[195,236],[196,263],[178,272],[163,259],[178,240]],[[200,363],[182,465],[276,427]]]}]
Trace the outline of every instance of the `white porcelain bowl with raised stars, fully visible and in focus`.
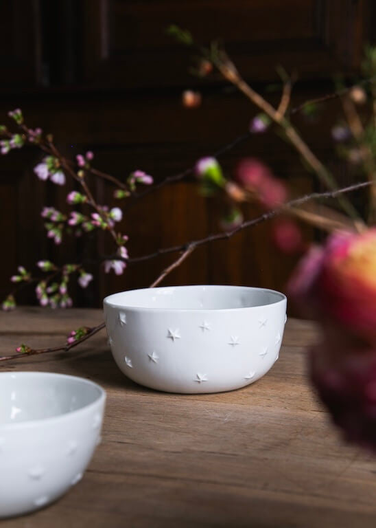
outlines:
[{"label": "white porcelain bowl with raised stars, fully visible and in focus", "polygon": [[104,299],[108,342],[131,380],[172,393],[246,386],[279,357],[286,298],[270,289],[179,286]]}]

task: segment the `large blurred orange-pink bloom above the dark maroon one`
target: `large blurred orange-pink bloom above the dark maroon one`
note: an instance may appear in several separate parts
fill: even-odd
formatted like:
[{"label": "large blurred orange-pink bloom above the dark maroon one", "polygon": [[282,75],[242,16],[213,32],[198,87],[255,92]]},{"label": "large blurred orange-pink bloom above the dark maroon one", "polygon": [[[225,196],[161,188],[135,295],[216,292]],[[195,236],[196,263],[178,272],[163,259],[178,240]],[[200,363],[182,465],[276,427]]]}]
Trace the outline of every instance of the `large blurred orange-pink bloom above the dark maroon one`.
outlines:
[{"label": "large blurred orange-pink bloom above the dark maroon one", "polygon": [[351,336],[375,343],[376,228],[330,236],[316,256],[298,265],[289,289],[324,325],[337,325]]}]

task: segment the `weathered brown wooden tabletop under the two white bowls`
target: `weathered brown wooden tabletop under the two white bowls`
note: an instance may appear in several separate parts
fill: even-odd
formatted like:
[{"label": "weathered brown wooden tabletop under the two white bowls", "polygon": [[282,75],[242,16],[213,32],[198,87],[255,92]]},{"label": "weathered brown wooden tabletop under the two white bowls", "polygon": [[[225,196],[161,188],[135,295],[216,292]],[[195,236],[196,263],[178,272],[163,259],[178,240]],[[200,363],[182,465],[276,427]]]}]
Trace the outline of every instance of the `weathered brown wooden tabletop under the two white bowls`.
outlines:
[{"label": "weathered brown wooden tabletop under the two white bowls", "polygon": [[[2,314],[1,353],[21,342],[60,344],[101,318],[97,310],[32,307]],[[342,444],[307,384],[304,347],[315,334],[311,323],[289,320],[268,375],[213,395],[130,382],[104,333],[67,354],[2,364],[88,377],[106,388],[108,403],[103,442],[82,481],[1,527],[375,528],[376,457]]]}]

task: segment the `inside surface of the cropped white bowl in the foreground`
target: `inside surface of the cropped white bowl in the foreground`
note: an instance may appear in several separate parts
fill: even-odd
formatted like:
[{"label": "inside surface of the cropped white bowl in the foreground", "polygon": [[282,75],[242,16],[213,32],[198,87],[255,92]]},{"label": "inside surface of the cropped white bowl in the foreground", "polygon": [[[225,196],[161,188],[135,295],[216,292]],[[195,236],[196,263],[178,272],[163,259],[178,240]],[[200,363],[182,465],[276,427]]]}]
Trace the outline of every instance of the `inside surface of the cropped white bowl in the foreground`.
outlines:
[{"label": "inside surface of the cropped white bowl in the foreground", "polygon": [[0,426],[67,414],[93,404],[99,386],[53,373],[0,373]]}]

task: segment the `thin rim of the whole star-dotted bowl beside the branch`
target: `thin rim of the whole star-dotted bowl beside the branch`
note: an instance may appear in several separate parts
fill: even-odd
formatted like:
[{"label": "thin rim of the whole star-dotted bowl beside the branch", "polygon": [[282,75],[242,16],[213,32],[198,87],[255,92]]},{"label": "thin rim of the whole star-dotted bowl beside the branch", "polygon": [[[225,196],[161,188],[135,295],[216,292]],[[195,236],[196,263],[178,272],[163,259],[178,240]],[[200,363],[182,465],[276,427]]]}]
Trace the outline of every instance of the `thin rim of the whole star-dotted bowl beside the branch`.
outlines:
[{"label": "thin rim of the whole star-dotted bowl beside the branch", "polygon": [[[118,296],[120,294],[128,294],[132,292],[143,292],[145,290],[162,290],[162,289],[182,289],[182,288],[198,288],[198,287],[205,287],[205,288],[226,288],[226,289],[248,289],[252,291],[258,291],[258,292],[270,292],[272,294],[276,294],[279,296],[279,299],[276,300],[273,303],[268,304],[261,304],[256,306],[242,306],[238,308],[158,308],[158,307],[141,307],[141,306],[132,306],[127,304],[115,304],[111,302],[111,298],[114,298],[115,296]],[[106,296],[103,300],[103,304],[106,306],[110,306],[112,308],[117,309],[128,309],[132,311],[151,311],[151,312],[194,312],[198,311],[200,313],[203,313],[205,311],[211,312],[211,313],[218,313],[218,312],[236,312],[236,311],[242,311],[242,310],[251,310],[251,309],[259,309],[262,307],[267,307],[271,305],[278,305],[279,303],[287,302],[287,297],[285,294],[282,294],[281,292],[278,292],[276,289],[270,289],[270,288],[261,288],[261,287],[254,287],[254,286],[240,286],[240,285],[221,285],[221,284],[191,284],[191,285],[178,285],[178,286],[161,286],[156,288],[136,288],[136,289],[128,289],[124,290],[123,292],[115,292],[115,294],[110,294]]]}]

